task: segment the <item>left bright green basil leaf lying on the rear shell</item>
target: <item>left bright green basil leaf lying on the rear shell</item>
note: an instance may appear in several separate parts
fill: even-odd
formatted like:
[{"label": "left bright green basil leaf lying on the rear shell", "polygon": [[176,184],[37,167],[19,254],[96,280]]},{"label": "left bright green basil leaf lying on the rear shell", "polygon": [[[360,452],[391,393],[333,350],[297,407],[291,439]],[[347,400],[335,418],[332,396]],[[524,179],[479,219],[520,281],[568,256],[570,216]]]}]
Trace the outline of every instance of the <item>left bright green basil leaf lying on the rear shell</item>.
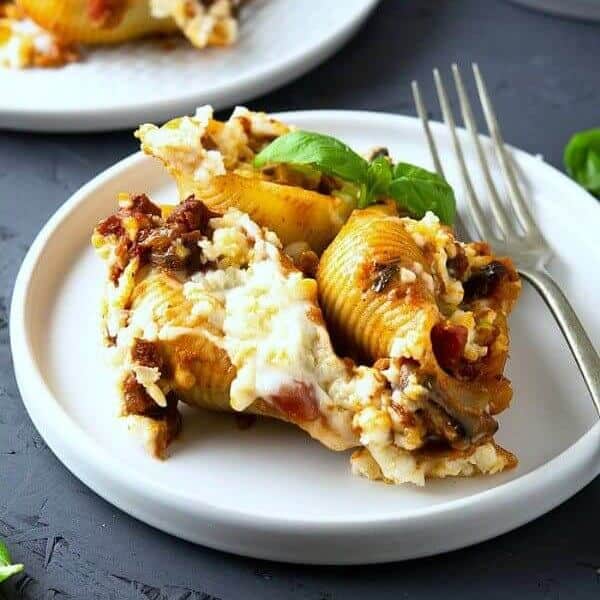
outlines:
[{"label": "left bright green basil leaf lying on the rear shell", "polygon": [[366,183],[369,163],[343,142],[322,133],[286,133],[254,157],[254,166],[287,163],[312,165],[322,173],[345,181]]}]

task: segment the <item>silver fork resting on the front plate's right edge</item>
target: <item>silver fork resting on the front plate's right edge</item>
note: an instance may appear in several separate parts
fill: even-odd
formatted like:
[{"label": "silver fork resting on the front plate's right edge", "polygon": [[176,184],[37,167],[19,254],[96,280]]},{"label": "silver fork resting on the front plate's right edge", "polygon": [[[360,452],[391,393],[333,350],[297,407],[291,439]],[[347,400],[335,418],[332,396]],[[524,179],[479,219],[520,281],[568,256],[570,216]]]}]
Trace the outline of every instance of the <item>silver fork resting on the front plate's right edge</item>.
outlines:
[{"label": "silver fork resting on the front plate's right edge", "polygon": [[[475,193],[460,141],[456,133],[454,115],[452,113],[450,102],[448,101],[442,77],[439,71],[434,69],[433,78],[438,100],[442,109],[444,122],[448,127],[454,145],[454,152],[460,168],[473,224],[475,225],[478,235],[491,244],[494,252],[510,256],[514,260],[521,276],[533,285],[546,302],[548,308],[552,311],[552,314],[558,322],[558,325],[569,344],[569,348],[577,361],[577,365],[579,366],[587,388],[592,396],[592,400],[596,406],[596,410],[598,411],[598,415],[600,416],[600,357],[595,351],[590,338],[585,332],[581,321],[578,319],[566,296],[546,270],[546,265],[552,257],[552,251],[544,239],[542,232],[536,225],[535,220],[527,207],[523,193],[519,188],[512,159],[504,146],[498,119],[496,118],[485,82],[483,81],[483,77],[481,76],[477,64],[473,64],[473,74],[475,76],[475,83],[479,100],[483,108],[483,114],[502,170],[510,205],[516,216],[515,222],[515,219],[509,216],[510,213],[507,212],[498,195],[477,132],[477,124],[473,116],[471,104],[465,91],[460,71],[458,66],[453,64],[452,75],[458,93],[463,122],[470,134],[479,159],[479,166],[489,192],[489,203],[493,216],[491,221],[495,221],[496,230],[499,232],[499,235],[496,234],[493,224],[490,223],[490,219],[486,217],[481,202]],[[429,150],[435,169],[438,174],[443,177],[444,172],[429,127],[427,110],[416,81],[412,82],[412,90],[417,113],[423,123],[423,129],[425,131],[427,143],[429,144]]]}]

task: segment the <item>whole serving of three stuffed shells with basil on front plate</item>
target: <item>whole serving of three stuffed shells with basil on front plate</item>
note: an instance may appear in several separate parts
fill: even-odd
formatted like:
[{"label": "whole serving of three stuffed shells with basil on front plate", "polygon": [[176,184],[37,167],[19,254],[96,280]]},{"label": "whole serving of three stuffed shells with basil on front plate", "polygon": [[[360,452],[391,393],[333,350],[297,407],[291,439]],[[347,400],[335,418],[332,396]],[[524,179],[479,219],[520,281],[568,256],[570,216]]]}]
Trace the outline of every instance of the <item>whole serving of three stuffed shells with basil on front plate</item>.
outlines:
[{"label": "whole serving of three stuffed shells with basil on front plate", "polygon": [[[245,109],[137,135],[183,195],[159,207],[123,194],[92,243],[121,414],[152,454],[166,456],[184,402],[293,423],[391,483],[516,464],[494,415],[512,395],[519,278],[487,244],[455,239],[443,180]],[[315,206],[333,216],[311,226]]]}]

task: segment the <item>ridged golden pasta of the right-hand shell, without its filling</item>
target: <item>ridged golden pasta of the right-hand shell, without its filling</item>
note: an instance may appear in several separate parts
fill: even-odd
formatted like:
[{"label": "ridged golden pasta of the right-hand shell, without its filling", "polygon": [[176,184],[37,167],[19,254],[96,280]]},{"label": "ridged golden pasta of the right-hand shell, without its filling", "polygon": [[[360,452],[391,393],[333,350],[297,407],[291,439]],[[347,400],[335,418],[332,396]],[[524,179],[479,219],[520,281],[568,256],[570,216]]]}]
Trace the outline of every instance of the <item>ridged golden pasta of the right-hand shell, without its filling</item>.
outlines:
[{"label": "ridged golden pasta of the right-hand shell, without its filling", "polygon": [[[438,363],[431,335],[445,321],[440,299],[422,277],[406,287],[397,276],[402,265],[413,265],[414,272],[416,264],[421,273],[431,275],[428,263],[401,220],[388,212],[381,207],[355,211],[323,253],[317,281],[326,320],[345,352],[369,361],[412,359],[436,402],[472,439],[489,437],[497,427],[490,415],[504,410],[512,397],[502,376],[508,351],[506,318],[498,312],[496,338],[476,377],[465,381],[447,373]],[[378,289],[385,265],[393,266],[394,277]]]}]

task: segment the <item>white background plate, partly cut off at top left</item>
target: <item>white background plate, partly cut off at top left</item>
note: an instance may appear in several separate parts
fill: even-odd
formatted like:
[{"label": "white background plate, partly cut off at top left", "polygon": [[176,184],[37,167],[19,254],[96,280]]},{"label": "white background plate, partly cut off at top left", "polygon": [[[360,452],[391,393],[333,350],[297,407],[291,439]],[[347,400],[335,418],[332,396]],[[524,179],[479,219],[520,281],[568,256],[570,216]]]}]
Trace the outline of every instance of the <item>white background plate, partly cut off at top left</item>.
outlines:
[{"label": "white background plate, partly cut off at top left", "polygon": [[245,102],[302,75],[335,52],[378,0],[252,0],[230,48],[182,40],[134,42],[86,52],[60,69],[0,67],[0,127],[101,131],[165,121],[201,104]]}]

